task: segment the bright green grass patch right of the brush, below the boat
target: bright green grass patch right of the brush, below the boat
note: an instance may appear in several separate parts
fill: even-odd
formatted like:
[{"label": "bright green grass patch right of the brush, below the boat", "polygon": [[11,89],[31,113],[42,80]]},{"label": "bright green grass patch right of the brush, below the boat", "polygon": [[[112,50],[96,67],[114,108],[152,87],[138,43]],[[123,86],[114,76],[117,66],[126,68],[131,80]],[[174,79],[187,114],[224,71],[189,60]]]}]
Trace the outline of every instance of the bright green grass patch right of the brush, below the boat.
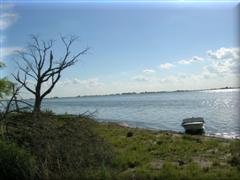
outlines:
[{"label": "bright green grass patch right of the brush, below the boat", "polygon": [[[239,140],[98,124],[120,179],[239,179]],[[133,136],[127,137],[131,132]]]}]

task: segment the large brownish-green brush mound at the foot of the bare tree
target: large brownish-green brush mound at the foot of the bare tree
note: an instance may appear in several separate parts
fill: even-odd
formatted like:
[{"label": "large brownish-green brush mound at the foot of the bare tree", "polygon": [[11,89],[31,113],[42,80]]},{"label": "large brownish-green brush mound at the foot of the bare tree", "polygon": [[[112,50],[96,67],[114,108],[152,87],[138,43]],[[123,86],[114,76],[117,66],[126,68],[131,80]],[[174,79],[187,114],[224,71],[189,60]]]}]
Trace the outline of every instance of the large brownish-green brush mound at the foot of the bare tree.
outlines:
[{"label": "large brownish-green brush mound at the foot of the bare tree", "polygon": [[86,179],[90,169],[109,165],[113,153],[95,131],[91,119],[42,113],[33,124],[32,114],[8,119],[8,137],[35,155],[41,179]]}]

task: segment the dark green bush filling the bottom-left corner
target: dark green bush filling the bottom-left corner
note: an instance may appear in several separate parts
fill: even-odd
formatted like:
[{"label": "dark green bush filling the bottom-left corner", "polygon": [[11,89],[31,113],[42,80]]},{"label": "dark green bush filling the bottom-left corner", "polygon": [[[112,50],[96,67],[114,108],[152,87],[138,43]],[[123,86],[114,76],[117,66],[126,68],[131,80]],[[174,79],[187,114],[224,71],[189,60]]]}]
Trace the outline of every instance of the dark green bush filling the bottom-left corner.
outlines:
[{"label": "dark green bush filling the bottom-left corner", "polygon": [[30,153],[0,140],[0,179],[34,179],[36,162]]}]

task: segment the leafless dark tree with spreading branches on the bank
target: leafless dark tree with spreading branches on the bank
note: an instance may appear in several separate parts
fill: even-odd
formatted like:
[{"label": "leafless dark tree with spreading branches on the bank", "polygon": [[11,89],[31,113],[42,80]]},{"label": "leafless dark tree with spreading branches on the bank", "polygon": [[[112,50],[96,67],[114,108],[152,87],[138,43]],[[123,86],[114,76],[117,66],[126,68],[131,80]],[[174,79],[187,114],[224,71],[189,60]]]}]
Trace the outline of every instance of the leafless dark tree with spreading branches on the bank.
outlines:
[{"label": "leafless dark tree with spreading branches on the bank", "polygon": [[[40,41],[35,35],[31,36],[32,41],[25,50],[17,51],[22,61],[17,61],[19,71],[13,74],[13,77],[35,96],[33,108],[35,117],[39,117],[43,98],[53,90],[62,72],[79,61],[80,56],[89,49],[84,48],[72,53],[70,49],[78,37],[60,36],[60,39],[64,46],[63,56],[60,58],[53,55],[53,40]],[[29,84],[29,81],[33,82],[34,86]],[[44,83],[48,83],[48,87],[43,90]]]}]

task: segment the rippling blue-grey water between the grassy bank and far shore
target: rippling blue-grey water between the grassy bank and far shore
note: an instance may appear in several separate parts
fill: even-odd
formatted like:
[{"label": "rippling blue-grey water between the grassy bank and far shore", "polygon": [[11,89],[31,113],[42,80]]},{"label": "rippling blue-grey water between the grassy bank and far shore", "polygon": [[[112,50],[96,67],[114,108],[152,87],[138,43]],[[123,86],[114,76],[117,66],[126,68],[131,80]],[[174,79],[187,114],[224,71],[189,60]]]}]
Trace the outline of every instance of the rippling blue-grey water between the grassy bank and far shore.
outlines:
[{"label": "rippling blue-grey water between the grassy bank and far shore", "polygon": [[44,108],[56,113],[97,111],[99,120],[132,127],[181,131],[182,119],[203,117],[207,134],[239,137],[239,89],[158,94],[46,99]]}]

